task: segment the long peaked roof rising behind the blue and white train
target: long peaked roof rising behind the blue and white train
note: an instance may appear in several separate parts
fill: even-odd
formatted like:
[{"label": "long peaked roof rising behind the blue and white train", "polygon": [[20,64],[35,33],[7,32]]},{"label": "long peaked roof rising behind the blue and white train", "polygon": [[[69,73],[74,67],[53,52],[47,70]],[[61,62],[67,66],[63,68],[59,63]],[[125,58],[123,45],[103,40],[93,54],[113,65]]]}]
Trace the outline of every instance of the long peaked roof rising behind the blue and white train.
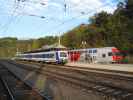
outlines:
[{"label": "long peaked roof rising behind the blue and white train", "polygon": [[67,48],[64,47],[63,45],[58,45],[58,44],[45,45],[42,48],[39,48],[39,49],[36,49],[36,50],[32,50],[32,51],[24,52],[24,54],[25,53],[45,52],[45,51],[59,51],[59,50],[67,50]]}]

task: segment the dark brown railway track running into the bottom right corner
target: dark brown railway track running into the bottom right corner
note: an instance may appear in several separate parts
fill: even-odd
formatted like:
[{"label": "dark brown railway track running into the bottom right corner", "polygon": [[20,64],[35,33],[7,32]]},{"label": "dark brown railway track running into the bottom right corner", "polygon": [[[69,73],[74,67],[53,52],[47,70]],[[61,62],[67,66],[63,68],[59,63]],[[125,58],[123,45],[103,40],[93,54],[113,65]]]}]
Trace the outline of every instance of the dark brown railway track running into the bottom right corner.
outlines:
[{"label": "dark brown railway track running into the bottom right corner", "polygon": [[86,92],[90,92],[90,90],[95,91],[96,93],[105,95],[106,98],[114,98],[115,100],[132,100],[133,97],[133,93],[131,91],[107,84],[101,84],[100,82],[88,81],[85,79],[70,77],[68,75],[53,73],[50,71],[46,71],[44,74],[51,76],[54,79],[67,81],[71,85],[74,84]]}]

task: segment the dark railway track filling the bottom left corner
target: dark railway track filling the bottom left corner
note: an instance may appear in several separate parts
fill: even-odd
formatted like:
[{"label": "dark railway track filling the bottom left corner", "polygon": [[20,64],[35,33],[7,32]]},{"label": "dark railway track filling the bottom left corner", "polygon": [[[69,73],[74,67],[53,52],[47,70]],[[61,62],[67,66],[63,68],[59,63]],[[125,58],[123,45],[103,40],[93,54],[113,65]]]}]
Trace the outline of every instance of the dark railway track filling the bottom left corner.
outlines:
[{"label": "dark railway track filling the bottom left corner", "polygon": [[46,100],[0,64],[0,100]]}]

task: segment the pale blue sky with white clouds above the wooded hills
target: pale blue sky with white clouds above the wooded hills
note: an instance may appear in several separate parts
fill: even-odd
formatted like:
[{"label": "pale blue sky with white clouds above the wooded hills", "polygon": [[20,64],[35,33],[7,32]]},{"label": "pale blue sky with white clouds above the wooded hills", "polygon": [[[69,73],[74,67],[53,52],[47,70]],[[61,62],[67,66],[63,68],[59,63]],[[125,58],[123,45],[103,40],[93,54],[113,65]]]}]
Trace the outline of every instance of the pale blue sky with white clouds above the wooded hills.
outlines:
[{"label": "pale blue sky with white clouds above the wooded hills", "polygon": [[113,13],[118,0],[0,0],[0,38],[57,36],[101,11]]}]

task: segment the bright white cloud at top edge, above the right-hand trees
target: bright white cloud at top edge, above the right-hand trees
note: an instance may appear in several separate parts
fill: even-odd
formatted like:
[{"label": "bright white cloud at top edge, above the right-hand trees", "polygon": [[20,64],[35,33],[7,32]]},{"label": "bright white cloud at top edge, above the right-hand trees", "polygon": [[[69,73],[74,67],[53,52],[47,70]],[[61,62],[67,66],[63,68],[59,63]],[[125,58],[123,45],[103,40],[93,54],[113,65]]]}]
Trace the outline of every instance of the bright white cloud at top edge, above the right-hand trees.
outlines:
[{"label": "bright white cloud at top edge, above the right-hand trees", "polygon": [[101,11],[105,10],[107,12],[112,12],[114,7],[112,7],[111,0],[69,0],[70,10],[72,12],[80,13],[80,12],[87,12],[87,11]]}]

